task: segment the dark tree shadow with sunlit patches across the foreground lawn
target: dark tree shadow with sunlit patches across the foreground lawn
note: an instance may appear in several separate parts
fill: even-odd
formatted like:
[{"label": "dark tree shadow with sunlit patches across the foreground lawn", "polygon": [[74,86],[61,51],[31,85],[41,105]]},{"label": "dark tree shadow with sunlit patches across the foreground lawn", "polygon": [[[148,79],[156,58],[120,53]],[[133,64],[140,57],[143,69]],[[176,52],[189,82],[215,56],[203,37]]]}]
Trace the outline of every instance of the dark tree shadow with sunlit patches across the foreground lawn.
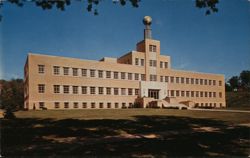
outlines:
[{"label": "dark tree shadow with sunlit patches across the foreground lawn", "polygon": [[248,156],[250,128],[169,116],[1,120],[3,156]]}]

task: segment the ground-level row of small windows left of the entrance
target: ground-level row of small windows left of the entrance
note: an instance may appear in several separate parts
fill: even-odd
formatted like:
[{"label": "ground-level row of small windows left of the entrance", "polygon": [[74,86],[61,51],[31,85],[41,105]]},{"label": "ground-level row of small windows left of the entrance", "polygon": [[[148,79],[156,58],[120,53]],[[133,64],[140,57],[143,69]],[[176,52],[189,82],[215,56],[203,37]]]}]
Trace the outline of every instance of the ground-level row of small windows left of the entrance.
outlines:
[{"label": "ground-level row of small windows left of the entrance", "polygon": [[[89,104],[89,105],[88,105]],[[91,103],[87,103],[87,102],[73,102],[72,103],[72,108],[75,108],[75,109],[78,109],[78,108],[127,108],[128,107],[132,107],[133,106],[133,103],[111,103],[111,102],[108,102],[108,103],[103,103],[103,102],[100,102],[99,104],[97,104],[96,102],[91,102]],[[39,102],[39,108],[43,109],[45,108],[46,105],[44,102]],[[55,109],[59,109],[59,108],[65,108],[65,109],[68,109],[70,108],[70,103],[69,102],[54,102],[54,108]]]}]

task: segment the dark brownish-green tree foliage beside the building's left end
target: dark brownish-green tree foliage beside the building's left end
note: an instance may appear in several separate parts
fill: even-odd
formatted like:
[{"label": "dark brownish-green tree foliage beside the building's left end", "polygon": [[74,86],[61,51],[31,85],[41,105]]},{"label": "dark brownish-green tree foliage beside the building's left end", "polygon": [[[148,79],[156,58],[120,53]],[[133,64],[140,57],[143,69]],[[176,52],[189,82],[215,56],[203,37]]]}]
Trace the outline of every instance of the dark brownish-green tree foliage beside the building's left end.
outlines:
[{"label": "dark brownish-green tree foliage beside the building's left end", "polygon": [[23,109],[24,93],[23,80],[12,79],[11,81],[2,80],[2,91],[0,95],[1,109],[16,111]]}]

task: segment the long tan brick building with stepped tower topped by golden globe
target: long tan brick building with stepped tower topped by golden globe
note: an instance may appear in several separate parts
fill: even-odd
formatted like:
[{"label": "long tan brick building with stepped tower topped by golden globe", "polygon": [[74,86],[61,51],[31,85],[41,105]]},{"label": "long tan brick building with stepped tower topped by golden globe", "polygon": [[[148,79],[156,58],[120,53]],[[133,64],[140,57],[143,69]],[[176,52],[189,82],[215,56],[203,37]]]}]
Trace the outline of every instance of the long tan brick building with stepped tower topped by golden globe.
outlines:
[{"label": "long tan brick building with stepped tower topped by golden globe", "polygon": [[224,76],[171,68],[143,20],[136,50],[100,61],[29,53],[24,66],[27,109],[225,107]]}]

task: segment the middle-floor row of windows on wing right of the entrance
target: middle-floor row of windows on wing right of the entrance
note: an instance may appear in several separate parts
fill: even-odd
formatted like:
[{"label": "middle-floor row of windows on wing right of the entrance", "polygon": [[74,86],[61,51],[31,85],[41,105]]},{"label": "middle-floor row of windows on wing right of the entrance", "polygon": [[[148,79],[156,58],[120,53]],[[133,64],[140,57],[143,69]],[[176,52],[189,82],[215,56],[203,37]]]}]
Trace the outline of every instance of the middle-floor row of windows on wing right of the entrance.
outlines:
[{"label": "middle-floor row of windows on wing right of the entrance", "polygon": [[[205,91],[181,91],[181,90],[170,90],[171,97],[205,97],[205,98],[216,98],[216,92],[205,92]],[[222,92],[218,93],[219,97],[222,98]]]}]

